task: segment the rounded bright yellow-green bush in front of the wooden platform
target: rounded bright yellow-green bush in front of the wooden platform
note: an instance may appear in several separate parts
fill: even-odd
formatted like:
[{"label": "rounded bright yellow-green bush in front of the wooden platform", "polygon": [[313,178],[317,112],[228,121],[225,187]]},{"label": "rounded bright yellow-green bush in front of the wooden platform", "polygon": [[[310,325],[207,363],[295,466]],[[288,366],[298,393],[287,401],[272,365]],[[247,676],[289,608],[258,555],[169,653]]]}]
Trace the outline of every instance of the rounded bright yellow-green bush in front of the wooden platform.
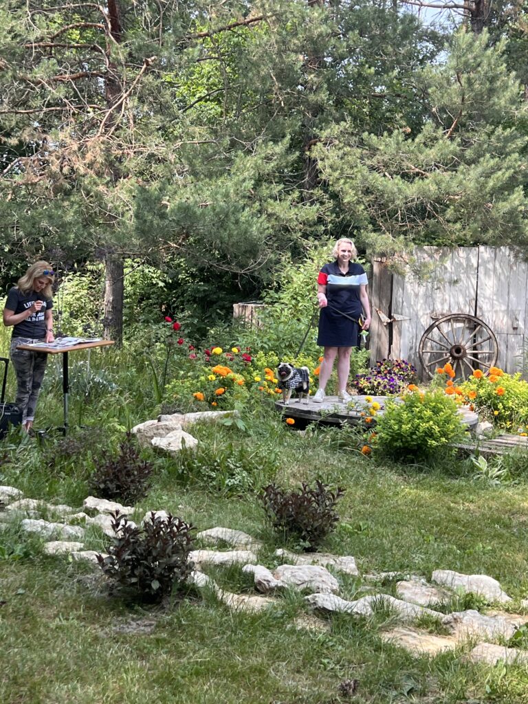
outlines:
[{"label": "rounded bright yellow-green bush in front of the wooden platform", "polygon": [[398,401],[387,401],[377,420],[375,448],[398,462],[420,462],[463,436],[452,398],[439,390],[413,391]]}]

